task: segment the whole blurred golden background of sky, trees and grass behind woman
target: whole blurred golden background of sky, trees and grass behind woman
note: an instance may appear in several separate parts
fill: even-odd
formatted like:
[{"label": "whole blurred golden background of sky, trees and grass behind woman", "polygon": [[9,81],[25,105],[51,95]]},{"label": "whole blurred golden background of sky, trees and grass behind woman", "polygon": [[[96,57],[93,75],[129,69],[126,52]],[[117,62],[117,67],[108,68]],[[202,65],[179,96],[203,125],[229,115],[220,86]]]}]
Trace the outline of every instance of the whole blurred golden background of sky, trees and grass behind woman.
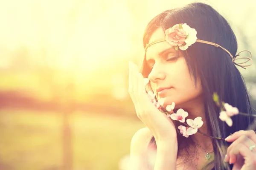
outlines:
[{"label": "whole blurred golden background of sky, trees and grass behind woman", "polygon": [[[0,0],[0,170],[121,170],[144,127],[128,94],[128,61],[141,64],[152,17],[192,2]],[[239,50],[256,55],[255,2],[198,2],[230,22]],[[256,65],[240,70],[255,106]]]}]

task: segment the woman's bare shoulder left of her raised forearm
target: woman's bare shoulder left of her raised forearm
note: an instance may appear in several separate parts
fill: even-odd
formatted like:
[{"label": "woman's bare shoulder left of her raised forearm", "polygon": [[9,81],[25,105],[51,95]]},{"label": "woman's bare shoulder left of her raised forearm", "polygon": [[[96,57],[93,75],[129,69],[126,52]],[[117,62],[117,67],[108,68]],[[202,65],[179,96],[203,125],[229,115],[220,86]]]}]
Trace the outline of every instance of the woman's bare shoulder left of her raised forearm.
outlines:
[{"label": "woman's bare shoulder left of her raised forearm", "polygon": [[151,131],[147,127],[138,130],[131,139],[131,155],[143,154],[152,136]]}]

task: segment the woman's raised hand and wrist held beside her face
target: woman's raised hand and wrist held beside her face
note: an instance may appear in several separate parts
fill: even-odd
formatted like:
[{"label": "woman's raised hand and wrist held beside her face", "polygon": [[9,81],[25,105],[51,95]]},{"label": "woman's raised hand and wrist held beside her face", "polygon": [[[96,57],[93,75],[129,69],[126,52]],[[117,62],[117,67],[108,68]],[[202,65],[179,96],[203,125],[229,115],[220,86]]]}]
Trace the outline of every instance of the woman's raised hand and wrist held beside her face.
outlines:
[{"label": "woman's raised hand and wrist held beside her face", "polygon": [[151,130],[158,141],[173,141],[177,143],[175,126],[148,99],[145,91],[143,75],[139,73],[137,65],[129,63],[129,94],[134,103],[139,119]]}]

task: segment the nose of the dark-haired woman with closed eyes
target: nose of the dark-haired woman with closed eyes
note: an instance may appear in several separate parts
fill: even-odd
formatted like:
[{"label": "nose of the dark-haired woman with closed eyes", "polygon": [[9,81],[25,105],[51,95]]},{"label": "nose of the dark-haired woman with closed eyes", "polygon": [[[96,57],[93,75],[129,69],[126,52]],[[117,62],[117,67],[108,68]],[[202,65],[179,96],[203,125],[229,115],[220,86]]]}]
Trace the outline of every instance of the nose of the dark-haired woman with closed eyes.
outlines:
[{"label": "nose of the dark-haired woman with closed eyes", "polygon": [[159,80],[163,80],[166,78],[166,74],[164,73],[163,67],[160,67],[160,65],[154,64],[154,67],[152,68],[150,74],[148,74],[148,79],[156,83]]}]

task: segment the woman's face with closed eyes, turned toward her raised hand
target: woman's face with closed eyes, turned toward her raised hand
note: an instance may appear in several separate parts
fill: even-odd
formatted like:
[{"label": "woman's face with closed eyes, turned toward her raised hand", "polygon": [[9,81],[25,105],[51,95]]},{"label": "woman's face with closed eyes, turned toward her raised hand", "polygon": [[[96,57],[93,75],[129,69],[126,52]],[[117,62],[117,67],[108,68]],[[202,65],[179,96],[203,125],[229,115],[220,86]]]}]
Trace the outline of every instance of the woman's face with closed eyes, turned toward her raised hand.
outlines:
[{"label": "woman's face with closed eyes, turned toward her raised hand", "polygon": [[[164,40],[162,28],[158,28],[151,36],[148,43]],[[195,80],[189,73],[185,58],[168,42],[159,42],[147,49],[146,60],[151,71],[148,75],[151,88],[157,99],[163,98],[164,107],[175,102],[177,108],[186,108],[195,104],[201,96],[201,80]],[[176,107],[175,107],[176,108]]]}]

